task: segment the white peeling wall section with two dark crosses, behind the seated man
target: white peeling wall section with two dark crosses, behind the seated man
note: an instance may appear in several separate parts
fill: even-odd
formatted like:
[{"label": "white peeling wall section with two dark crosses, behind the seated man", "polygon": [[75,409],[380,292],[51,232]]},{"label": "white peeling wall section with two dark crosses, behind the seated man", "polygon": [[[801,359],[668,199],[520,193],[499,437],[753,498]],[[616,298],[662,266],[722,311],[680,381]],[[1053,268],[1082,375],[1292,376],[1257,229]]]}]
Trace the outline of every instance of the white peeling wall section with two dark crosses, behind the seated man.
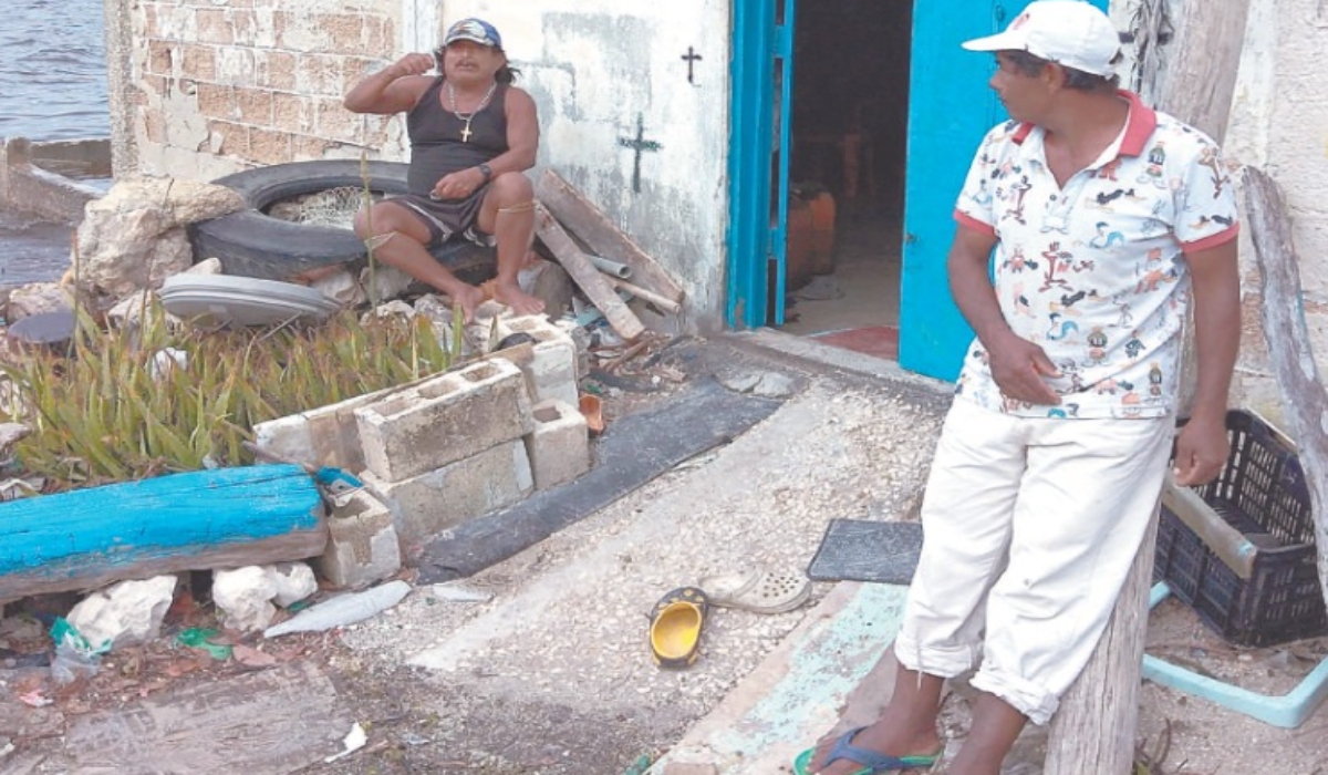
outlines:
[{"label": "white peeling wall section with two dark crosses, behind the seated man", "polygon": [[[535,174],[555,169],[656,257],[687,290],[684,324],[703,330],[722,324],[725,298],[729,13],[728,0],[442,3],[444,27],[479,16],[502,33],[518,85],[539,106]],[[433,24],[404,16],[418,20],[417,33]],[[689,47],[704,57],[696,85],[681,58]],[[620,145],[636,137],[637,117],[660,144],[641,154],[640,191],[635,152]]]}]

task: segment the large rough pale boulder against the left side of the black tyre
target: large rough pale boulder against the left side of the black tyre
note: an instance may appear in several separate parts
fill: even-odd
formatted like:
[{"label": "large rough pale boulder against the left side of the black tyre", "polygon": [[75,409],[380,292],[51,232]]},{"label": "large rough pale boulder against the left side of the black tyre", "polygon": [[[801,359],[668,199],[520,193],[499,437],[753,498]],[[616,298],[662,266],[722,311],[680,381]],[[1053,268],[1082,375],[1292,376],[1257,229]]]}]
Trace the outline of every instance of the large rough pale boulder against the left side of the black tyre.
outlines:
[{"label": "large rough pale boulder against the left side of the black tyre", "polygon": [[104,306],[187,270],[185,226],[244,207],[226,186],[130,177],[88,203],[78,226],[78,284]]}]

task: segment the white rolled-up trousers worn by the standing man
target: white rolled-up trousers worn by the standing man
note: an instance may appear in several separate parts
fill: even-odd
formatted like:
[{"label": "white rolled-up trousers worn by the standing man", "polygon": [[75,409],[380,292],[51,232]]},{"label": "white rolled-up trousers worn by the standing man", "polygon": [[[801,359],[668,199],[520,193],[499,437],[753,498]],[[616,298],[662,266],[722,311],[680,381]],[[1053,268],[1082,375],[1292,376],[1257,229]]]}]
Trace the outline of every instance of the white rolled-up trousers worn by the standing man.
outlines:
[{"label": "white rolled-up trousers worn by the standing man", "polygon": [[1171,419],[1012,417],[956,397],[923,498],[895,654],[1033,723],[1056,713],[1153,518]]}]

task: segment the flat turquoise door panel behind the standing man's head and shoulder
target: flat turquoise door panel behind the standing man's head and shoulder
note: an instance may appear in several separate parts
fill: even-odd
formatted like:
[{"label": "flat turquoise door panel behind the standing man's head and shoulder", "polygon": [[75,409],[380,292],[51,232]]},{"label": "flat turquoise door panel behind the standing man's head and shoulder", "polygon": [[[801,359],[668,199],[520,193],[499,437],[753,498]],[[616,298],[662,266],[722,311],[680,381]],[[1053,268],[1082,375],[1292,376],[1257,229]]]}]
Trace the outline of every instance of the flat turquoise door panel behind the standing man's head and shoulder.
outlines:
[{"label": "flat turquoise door panel behind the standing man's head and shoulder", "polygon": [[[1108,0],[1092,0],[1106,9]],[[914,3],[904,182],[904,266],[899,298],[899,366],[955,380],[973,332],[950,295],[946,255],[955,199],[983,134],[1007,118],[987,85],[991,55],[965,40],[1005,28],[1025,0]]]}]

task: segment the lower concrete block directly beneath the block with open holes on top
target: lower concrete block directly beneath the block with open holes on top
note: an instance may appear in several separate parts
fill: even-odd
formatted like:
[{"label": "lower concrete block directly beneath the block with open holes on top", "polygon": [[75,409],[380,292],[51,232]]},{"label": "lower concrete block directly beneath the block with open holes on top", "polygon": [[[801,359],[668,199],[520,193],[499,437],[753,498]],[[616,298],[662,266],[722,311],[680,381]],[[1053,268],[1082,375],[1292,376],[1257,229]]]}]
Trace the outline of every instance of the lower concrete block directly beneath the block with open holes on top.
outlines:
[{"label": "lower concrete block directly beneath the block with open holes on top", "polygon": [[509,506],[529,496],[535,484],[521,439],[405,481],[390,483],[373,471],[360,479],[388,504],[404,548]]}]

